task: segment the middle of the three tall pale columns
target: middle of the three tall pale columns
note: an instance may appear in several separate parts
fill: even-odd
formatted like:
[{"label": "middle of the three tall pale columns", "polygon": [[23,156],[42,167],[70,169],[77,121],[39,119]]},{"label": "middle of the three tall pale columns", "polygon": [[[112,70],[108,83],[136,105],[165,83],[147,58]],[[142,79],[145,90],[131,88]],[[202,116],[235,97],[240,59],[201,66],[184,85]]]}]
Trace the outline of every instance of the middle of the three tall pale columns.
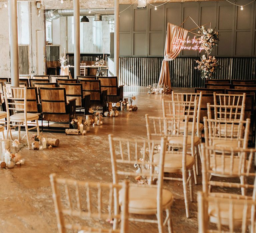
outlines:
[{"label": "middle of the three tall pale columns", "polygon": [[80,75],[80,7],[79,0],[74,0],[74,79]]}]

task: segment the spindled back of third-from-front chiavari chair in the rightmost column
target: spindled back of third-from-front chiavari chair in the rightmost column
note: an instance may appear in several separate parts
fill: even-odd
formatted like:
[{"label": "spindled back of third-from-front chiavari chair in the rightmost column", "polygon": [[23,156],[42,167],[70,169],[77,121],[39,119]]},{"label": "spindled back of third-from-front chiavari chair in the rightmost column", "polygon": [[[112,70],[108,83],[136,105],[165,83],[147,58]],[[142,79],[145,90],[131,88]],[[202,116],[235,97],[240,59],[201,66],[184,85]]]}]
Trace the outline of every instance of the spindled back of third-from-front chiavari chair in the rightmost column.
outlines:
[{"label": "spindled back of third-from-front chiavari chair in the rightmost column", "polygon": [[[209,104],[207,107],[210,106]],[[243,126],[245,125],[245,130]],[[243,133],[244,131],[244,133]],[[205,144],[213,145],[214,141],[234,141],[238,147],[247,148],[250,131],[250,119],[246,120],[220,120],[204,117]]]}]

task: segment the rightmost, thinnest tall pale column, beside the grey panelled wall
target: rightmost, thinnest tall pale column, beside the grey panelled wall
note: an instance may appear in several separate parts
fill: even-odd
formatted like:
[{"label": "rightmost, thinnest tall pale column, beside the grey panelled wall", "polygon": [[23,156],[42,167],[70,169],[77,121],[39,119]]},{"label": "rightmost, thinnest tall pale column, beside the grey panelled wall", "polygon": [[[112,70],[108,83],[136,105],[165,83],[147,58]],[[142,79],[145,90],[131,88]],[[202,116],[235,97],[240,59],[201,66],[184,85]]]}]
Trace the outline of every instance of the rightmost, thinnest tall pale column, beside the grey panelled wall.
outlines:
[{"label": "rightmost, thinnest tall pale column, beside the grey panelled wall", "polygon": [[115,32],[114,32],[114,75],[119,77],[119,0],[114,0]]}]

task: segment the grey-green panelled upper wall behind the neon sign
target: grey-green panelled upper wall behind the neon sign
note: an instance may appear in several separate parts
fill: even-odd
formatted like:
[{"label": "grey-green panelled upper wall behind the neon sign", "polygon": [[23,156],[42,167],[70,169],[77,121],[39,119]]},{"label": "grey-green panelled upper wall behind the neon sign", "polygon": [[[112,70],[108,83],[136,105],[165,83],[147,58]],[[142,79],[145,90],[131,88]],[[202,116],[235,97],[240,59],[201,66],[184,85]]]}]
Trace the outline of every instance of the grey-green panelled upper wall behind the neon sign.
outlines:
[{"label": "grey-green panelled upper wall behind the neon sign", "polygon": [[[246,5],[250,0],[231,1]],[[156,4],[157,5],[157,4]],[[158,4],[159,5],[159,4]],[[120,11],[129,5],[120,5]],[[162,57],[168,22],[175,25],[191,16],[198,25],[211,22],[219,32],[219,46],[212,52],[217,57],[256,57],[256,3],[244,7],[227,1],[174,2],[154,10],[153,6],[138,9],[133,4],[120,13],[120,56]],[[188,19],[183,27],[196,33],[196,25]],[[206,25],[209,27],[209,24]],[[194,34],[189,33],[193,38]],[[179,57],[199,57],[197,51],[182,51]]]}]

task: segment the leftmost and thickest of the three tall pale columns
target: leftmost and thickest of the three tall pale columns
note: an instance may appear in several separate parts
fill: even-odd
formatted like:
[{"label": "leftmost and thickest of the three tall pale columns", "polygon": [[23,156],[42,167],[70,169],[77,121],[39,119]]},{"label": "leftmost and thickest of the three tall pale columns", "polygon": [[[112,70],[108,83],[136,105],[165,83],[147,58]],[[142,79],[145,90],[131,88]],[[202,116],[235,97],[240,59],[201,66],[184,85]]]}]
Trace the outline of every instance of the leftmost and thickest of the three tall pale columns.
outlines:
[{"label": "leftmost and thickest of the three tall pale columns", "polygon": [[19,87],[19,48],[18,48],[18,17],[17,0],[9,0],[9,30],[10,30],[10,58],[11,83]]}]

